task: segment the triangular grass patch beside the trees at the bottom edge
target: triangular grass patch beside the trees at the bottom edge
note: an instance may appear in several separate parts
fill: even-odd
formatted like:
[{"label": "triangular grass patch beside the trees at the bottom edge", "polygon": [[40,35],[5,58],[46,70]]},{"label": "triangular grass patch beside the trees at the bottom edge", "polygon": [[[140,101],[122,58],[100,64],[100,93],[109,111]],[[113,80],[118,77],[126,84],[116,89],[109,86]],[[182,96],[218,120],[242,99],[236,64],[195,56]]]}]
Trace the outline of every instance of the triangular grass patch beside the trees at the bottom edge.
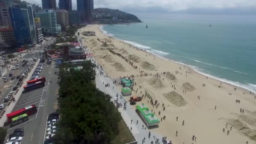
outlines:
[{"label": "triangular grass patch beside the trees at the bottom edge", "polygon": [[125,122],[122,120],[118,123],[119,134],[112,141],[112,144],[126,144],[135,141],[131,131],[126,126]]}]

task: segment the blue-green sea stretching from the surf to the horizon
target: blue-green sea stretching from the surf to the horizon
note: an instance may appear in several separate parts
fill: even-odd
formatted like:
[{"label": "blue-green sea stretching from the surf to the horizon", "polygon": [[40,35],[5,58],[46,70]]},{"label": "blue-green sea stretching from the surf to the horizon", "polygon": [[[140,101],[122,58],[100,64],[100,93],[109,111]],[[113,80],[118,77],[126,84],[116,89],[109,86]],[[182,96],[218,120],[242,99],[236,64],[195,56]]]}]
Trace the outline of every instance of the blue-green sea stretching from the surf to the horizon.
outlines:
[{"label": "blue-green sea stretching from the surf to the horizon", "polygon": [[209,77],[256,91],[256,16],[173,14],[141,20],[101,30]]}]

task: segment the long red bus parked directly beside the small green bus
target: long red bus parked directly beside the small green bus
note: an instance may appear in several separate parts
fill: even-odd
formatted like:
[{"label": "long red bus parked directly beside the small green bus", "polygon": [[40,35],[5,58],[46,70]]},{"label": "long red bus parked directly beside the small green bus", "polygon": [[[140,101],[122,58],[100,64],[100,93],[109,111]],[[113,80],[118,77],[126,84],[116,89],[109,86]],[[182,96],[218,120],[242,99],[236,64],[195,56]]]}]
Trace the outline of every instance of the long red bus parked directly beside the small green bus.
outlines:
[{"label": "long red bus parked directly beside the small green bus", "polygon": [[11,122],[11,119],[13,117],[18,117],[19,115],[27,114],[27,115],[33,115],[37,113],[37,107],[33,104],[28,107],[24,107],[22,109],[16,110],[14,112],[11,112],[6,115],[8,122]]}]

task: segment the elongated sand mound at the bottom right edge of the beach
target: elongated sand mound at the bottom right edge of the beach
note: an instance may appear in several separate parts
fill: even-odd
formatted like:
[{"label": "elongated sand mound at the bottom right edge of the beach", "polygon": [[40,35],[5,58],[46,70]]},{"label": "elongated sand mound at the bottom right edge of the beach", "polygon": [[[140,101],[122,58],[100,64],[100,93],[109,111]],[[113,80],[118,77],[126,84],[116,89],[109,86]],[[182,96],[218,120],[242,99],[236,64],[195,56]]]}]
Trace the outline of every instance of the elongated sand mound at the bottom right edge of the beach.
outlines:
[{"label": "elongated sand mound at the bottom right edge of the beach", "polygon": [[256,131],[248,128],[241,120],[231,119],[229,120],[229,124],[235,127],[238,132],[243,133],[245,136],[256,141]]}]

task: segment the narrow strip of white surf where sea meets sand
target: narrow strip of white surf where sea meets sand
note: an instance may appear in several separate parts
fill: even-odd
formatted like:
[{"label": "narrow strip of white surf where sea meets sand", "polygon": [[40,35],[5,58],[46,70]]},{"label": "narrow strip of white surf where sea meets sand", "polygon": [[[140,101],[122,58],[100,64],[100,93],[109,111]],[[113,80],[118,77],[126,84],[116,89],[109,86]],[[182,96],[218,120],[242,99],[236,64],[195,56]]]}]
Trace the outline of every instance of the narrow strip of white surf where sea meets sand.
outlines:
[{"label": "narrow strip of white surf where sea meets sand", "polygon": [[[109,33],[109,34],[111,34],[111,35],[107,35],[107,31],[104,31],[103,27],[101,28],[101,26],[104,26],[104,25],[108,25],[108,24],[100,24],[99,27],[98,27],[99,30],[101,30],[101,32],[102,32],[104,35],[106,35],[107,37],[115,38],[116,40],[123,41],[124,43],[127,43],[126,40],[118,39],[117,37],[114,37],[114,35],[112,35],[111,33]],[[133,45],[132,43],[128,43],[128,44]],[[136,45],[133,45],[133,46],[136,47]],[[143,46],[144,46],[144,45],[143,45]],[[144,47],[146,47],[146,46],[144,46]],[[141,49],[141,50],[147,50],[147,48],[140,48],[140,49]],[[149,51],[148,51],[148,52],[149,52]],[[149,53],[151,53],[151,52],[149,52]],[[209,78],[211,78],[211,79],[213,79],[213,80],[219,81],[219,82],[221,82],[221,83],[225,83],[225,84],[230,85],[230,86],[233,86],[233,87],[238,87],[241,91],[248,91],[248,92],[251,91],[251,92],[253,92],[253,93],[256,93],[256,91],[254,91],[254,90],[252,90],[252,89],[250,89],[250,88],[247,88],[247,87],[245,87],[245,86],[243,86],[243,85],[235,84],[235,83],[239,83],[239,82],[227,80],[227,79],[220,78],[220,77],[216,77],[216,76],[214,76],[214,75],[210,75],[210,74],[207,74],[207,73],[204,73],[204,72],[200,72],[199,70],[197,70],[197,69],[196,69],[194,66],[192,66],[192,65],[184,64],[184,63],[181,63],[181,62],[179,62],[179,61],[175,61],[175,60],[173,60],[173,59],[167,59],[167,58],[164,58],[163,56],[159,56],[159,55],[157,55],[157,54],[155,54],[155,53],[151,53],[151,54],[153,54],[153,55],[155,55],[155,56],[157,56],[157,57],[159,57],[159,58],[161,58],[161,59],[163,59],[163,60],[171,61],[171,62],[174,62],[174,63],[177,63],[177,64],[181,64],[181,65],[190,67],[191,69],[193,69],[194,72],[197,72],[197,73],[200,74],[200,75],[203,75],[203,76],[205,76],[205,77],[209,77]]]}]

